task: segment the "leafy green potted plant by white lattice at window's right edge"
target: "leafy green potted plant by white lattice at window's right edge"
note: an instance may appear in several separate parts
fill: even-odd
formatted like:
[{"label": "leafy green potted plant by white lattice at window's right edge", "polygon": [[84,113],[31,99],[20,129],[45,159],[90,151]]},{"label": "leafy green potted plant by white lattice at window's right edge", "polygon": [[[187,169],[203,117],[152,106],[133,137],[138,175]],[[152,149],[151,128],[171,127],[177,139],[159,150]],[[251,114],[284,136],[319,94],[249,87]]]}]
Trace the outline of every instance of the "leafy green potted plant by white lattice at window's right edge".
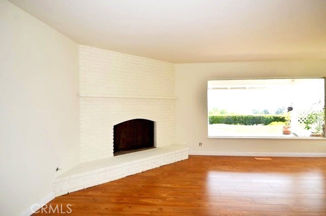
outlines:
[{"label": "leafy green potted plant by white lattice at window's right edge", "polygon": [[325,118],[325,107],[320,111],[313,111],[308,114],[305,121],[305,129],[311,131],[311,137],[322,137],[324,136],[324,118]]}]

